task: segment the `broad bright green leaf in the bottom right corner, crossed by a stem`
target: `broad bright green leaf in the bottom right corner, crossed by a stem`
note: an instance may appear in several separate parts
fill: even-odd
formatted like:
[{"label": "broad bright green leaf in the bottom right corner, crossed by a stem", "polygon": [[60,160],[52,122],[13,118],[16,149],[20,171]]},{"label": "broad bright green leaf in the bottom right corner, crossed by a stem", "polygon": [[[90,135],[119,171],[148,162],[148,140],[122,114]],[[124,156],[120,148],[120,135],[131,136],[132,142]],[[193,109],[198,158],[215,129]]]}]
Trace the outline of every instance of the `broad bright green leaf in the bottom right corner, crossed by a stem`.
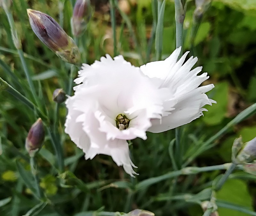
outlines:
[{"label": "broad bright green leaf in the bottom right corner, crossed by a stem", "polygon": [[[226,201],[234,205],[240,205],[248,210],[252,208],[252,197],[249,194],[247,185],[244,181],[238,179],[229,179],[225,182],[220,191],[217,192],[218,201]],[[248,216],[249,214],[238,212],[227,208],[218,208],[220,216]]]}]

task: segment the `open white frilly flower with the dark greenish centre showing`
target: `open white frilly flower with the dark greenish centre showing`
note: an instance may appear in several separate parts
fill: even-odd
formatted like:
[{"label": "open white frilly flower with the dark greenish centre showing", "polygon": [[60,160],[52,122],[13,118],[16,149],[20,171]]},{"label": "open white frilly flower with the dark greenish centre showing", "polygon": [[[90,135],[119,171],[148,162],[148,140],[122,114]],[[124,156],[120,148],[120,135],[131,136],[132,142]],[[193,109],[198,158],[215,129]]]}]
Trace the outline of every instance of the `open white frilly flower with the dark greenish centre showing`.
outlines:
[{"label": "open white frilly flower with the dark greenish centre showing", "polygon": [[134,176],[126,140],[147,139],[151,119],[164,115],[163,103],[171,95],[158,88],[139,67],[122,56],[100,58],[84,64],[75,80],[75,94],[68,97],[65,132],[85,153],[110,155],[126,173]]}]

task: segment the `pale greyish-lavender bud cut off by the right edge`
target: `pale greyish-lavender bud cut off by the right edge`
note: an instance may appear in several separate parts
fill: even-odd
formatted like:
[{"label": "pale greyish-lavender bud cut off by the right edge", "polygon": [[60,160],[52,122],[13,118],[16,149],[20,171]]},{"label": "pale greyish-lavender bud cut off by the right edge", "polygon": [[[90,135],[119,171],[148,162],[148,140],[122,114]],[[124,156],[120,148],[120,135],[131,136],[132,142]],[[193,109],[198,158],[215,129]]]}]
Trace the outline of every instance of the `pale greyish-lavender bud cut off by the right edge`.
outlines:
[{"label": "pale greyish-lavender bud cut off by the right edge", "polygon": [[239,163],[248,163],[256,159],[256,137],[244,144],[244,148],[237,155],[236,160]]}]

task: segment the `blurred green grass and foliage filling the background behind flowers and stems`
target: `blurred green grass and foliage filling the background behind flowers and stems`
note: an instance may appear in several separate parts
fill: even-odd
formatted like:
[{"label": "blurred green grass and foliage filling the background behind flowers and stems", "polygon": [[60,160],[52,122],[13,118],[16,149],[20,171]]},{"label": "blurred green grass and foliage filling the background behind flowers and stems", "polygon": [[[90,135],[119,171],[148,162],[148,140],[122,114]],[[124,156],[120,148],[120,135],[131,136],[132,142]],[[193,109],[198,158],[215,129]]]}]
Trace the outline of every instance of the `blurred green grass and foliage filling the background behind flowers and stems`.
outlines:
[{"label": "blurred green grass and foliage filling the background behind flowers and stems", "polygon": [[[74,1],[64,1],[64,30],[71,35],[69,20]],[[88,23],[86,33],[79,41],[82,57],[88,64],[109,53],[113,56],[113,40],[107,1],[92,1],[95,12]],[[63,63],[52,51],[45,47],[34,35],[28,22],[26,8],[49,14],[59,20],[57,0],[14,0],[13,16],[18,34],[21,37],[26,61],[33,72],[33,80],[51,119],[52,92],[56,88],[67,89],[70,65]],[[122,16],[117,16],[118,51],[140,66],[155,58],[154,44],[152,54],[147,59],[146,50],[152,27],[151,1],[140,0],[130,6],[121,5],[128,13],[135,32],[137,45],[129,34],[129,28]],[[190,50],[190,32],[194,2],[188,3],[184,22],[184,51]],[[10,84],[18,86],[21,93],[28,90],[27,82],[12,43],[10,28],[4,11],[0,8],[0,76]],[[192,53],[198,57],[197,66],[208,72],[215,88],[209,97],[218,103],[208,106],[209,112],[181,128],[183,154],[175,158],[178,164],[185,162],[207,138],[217,133],[238,113],[256,103],[256,2],[254,0],[213,0],[204,14],[196,35]],[[175,49],[174,3],[166,1],[163,30],[163,58]],[[20,85],[6,73],[11,71]],[[205,83],[205,84],[207,84]],[[66,110],[60,108],[60,130],[63,131]],[[38,201],[33,198],[29,186],[31,174],[28,154],[24,149],[28,130],[35,122],[33,111],[17,101],[6,91],[0,94],[0,214],[23,215]],[[230,162],[231,146],[236,137],[242,135],[247,142],[256,135],[256,118],[250,117],[232,127],[228,133],[215,141],[215,147],[197,157],[190,166],[211,166]],[[129,212],[134,208],[147,209],[156,215],[202,215],[200,205],[188,202],[189,194],[196,194],[211,185],[212,180],[222,171],[205,172],[169,178],[136,191],[139,182],[151,177],[161,176],[173,170],[170,142],[174,130],[161,134],[148,133],[147,141],[132,141],[132,160],[138,166],[140,175],[131,179],[122,167],[108,156],[98,155],[93,160],[84,160],[81,150],[76,148],[69,137],[62,133],[65,167],[70,171],[61,186],[62,177],[54,168],[55,156],[49,137],[37,157],[40,186],[44,189],[52,206],[47,205],[37,215],[91,215],[98,212]],[[27,176],[24,182],[22,172]],[[72,176],[72,173],[75,176]],[[82,180],[82,181],[79,181]],[[62,182],[63,183],[63,182]],[[30,189],[29,189],[30,188]],[[184,196],[187,194],[187,197]],[[176,196],[176,198],[175,198]],[[181,196],[179,199],[177,196]],[[183,197],[182,197],[183,196]],[[10,197],[10,198],[8,198]],[[164,198],[163,198],[164,197]],[[237,171],[217,194],[218,199],[255,210],[255,178]],[[201,199],[201,198],[200,198]],[[227,208],[219,208],[220,216],[250,215]],[[32,215],[32,214],[31,214]],[[36,215],[36,214],[35,214]]]}]

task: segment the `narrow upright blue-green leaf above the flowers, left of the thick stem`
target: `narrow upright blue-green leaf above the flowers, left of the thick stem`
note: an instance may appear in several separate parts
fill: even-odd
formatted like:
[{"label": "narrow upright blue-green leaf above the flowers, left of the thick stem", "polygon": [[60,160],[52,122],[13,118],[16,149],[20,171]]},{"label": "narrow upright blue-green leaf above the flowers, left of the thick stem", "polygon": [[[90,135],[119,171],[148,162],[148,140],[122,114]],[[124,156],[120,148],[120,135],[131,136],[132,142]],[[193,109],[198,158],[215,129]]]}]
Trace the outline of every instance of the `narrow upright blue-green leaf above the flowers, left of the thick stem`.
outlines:
[{"label": "narrow upright blue-green leaf above the flowers, left of the thick stem", "polygon": [[157,17],[156,24],[156,40],[155,40],[155,49],[156,49],[156,60],[161,60],[162,56],[162,47],[163,47],[163,29],[164,29],[164,8],[165,0],[163,1],[159,14]]}]

